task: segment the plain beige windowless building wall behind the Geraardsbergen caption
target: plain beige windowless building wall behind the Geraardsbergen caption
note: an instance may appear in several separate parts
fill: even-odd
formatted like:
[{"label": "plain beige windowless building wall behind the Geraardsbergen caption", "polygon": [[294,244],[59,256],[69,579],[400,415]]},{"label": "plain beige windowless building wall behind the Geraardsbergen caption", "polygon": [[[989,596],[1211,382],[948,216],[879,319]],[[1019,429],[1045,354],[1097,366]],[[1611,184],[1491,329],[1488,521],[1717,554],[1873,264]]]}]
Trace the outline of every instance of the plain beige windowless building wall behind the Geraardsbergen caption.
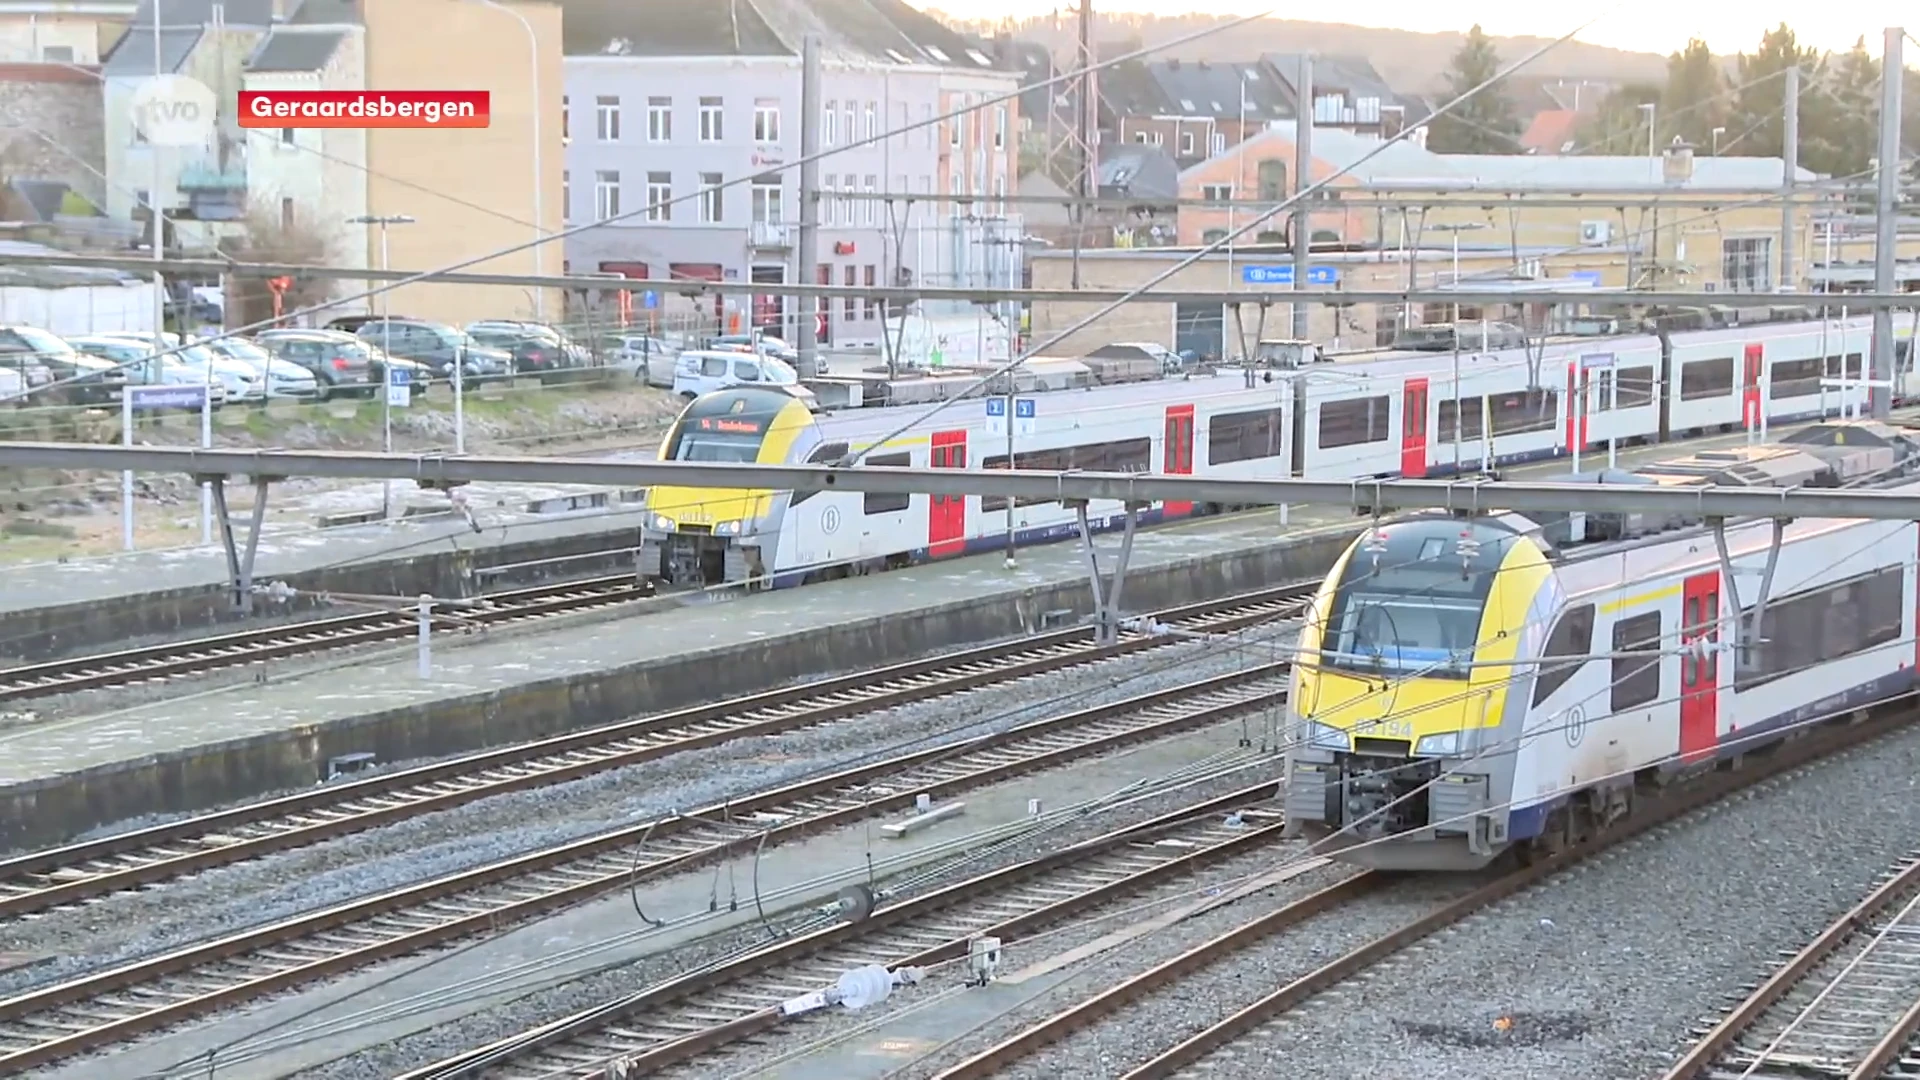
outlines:
[{"label": "plain beige windowless building wall behind the Geraardsbergen caption", "polygon": [[[417,219],[392,231],[396,269],[461,263],[528,244],[534,223],[534,104],[540,106],[541,229],[561,231],[561,8],[511,0],[526,17],[530,46],[511,13],[468,0],[372,0],[367,19],[367,86],[378,90],[490,90],[492,125],[463,131],[374,129],[367,133],[369,192],[374,215]],[[534,94],[538,52],[538,86]],[[438,198],[436,192],[459,196]],[[380,259],[369,234],[369,263]],[[561,244],[490,258],[476,273],[561,273]],[[530,319],[561,313],[559,292],[534,298],[518,286],[420,284],[392,294],[392,309],[422,319]],[[541,302],[536,302],[541,300]]]}]

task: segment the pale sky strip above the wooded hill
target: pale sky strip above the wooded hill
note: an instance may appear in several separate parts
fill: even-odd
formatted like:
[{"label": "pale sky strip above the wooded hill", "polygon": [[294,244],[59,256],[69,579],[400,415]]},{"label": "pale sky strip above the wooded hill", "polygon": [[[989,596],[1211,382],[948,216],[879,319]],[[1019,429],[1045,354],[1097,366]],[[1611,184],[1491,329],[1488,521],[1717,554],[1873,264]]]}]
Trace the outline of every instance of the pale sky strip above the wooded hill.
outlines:
[{"label": "pale sky strip above the wooded hill", "polygon": [[[1703,38],[1715,52],[1751,52],[1761,35],[1780,25],[1791,25],[1801,44],[1832,50],[1847,50],[1853,40],[1866,37],[1866,48],[1880,52],[1882,29],[1905,25],[1907,33],[1920,37],[1920,13],[1912,4],[1899,0],[1859,0],[1851,4],[1786,4],[1782,0],[1753,0],[1730,4],[1726,0],[1705,0],[1701,4],[1674,4],[1670,0],[1615,0],[1594,6],[1538,4],[1521,0],[1494,0],[1482,4],[1432,4],[1432,0],[1373,0],[1361,8],[1298,8],[1277,6],[1273,0],[1204,0],[1190,12],[1219,12],[1227,15],[1252,15],[1273,12],[1286,19],[1313,19],[1327,23],[1357,23],[1365,27],[1392,27],[1405,31],[1463,31],[1478,21],[1490,35],[1534,35],[1555,38],[1582,19],[1601,15],[1580,40],[1626,48],[1634,52],[1668,54],[1688,42],[1690,37]],[[1164,0],[1092,0],[1094,10],[1108,12],[1165,12]],[[952,15],[972,15],[985,19],[1044,15],[1056,6],[1068,10],[1073,0],[933,0],[935,6]],[[1580,12],[1586,12],[1584,15]],[[1338,12],[1338,15],[1334,15]],[[1907,42],[1907,65],[1920,61],[1920,48]]]}]

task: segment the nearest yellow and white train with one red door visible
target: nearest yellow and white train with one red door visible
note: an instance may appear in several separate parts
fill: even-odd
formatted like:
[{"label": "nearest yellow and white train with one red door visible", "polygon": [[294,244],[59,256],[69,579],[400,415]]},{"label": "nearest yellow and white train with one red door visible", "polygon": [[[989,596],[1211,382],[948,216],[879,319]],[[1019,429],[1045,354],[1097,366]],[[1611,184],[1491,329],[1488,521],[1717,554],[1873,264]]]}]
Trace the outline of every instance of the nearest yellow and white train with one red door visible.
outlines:
[{"label": "nearest yellow and white train with one red door visible", "polygon": [[[1897,488],[1916,459],[1908,432],[1826,423],[1640,482]],[[1373,528],[1300,638],[1290,826],[1350,863],[1476,869],[1578,842],[1665,774],[1914,690],[1920,527],[1778,528],[1515,513]]]}]

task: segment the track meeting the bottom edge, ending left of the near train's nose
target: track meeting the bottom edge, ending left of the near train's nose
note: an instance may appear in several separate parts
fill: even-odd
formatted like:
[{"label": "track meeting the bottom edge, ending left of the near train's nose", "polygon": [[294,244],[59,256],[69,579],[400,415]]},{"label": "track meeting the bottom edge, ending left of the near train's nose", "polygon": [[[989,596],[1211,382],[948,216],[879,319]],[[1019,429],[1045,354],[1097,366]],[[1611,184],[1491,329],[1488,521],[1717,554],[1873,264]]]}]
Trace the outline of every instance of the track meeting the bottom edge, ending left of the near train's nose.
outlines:
[{"label": "track meeting the bottom edge, ending left of the near train's nose", "polygon": [[[1004,945],[1096,907],[1133,901],[1204,865],[1279,844],[1283,819],[1273,792],[1265,782],[1212,798],[879,907],[864,920],[837,920],[401,1080],[653,1076],[670,1068],[726,1076],[730,1049],[785,1022],[783,1003],[804,1001],[845,970],[954,961],[968,955],[973,938],[998,938]],[[1227,828],[1221,815],[1229,811],[1246,824]]]}]

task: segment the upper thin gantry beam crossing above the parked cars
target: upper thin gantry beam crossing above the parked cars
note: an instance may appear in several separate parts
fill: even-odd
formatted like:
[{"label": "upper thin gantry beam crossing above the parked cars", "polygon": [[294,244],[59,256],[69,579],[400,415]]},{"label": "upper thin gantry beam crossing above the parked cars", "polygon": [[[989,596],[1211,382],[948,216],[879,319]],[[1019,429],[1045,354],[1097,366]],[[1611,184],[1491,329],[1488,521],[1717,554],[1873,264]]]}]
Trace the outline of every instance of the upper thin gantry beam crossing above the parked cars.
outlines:
[{"label": "upper thin gantry beam crossing above the parked cars", "polygon": [[[889,286],[845,286],[845,284],[799,284],[799,282],[747,282],[747,281],[649,281],[628,277],[593,275],[518,275],[518,273],[430,273],[397,269],[351,269],[319,267],[305,263],[234,263],[225,259],[142,259],[127,256],[6,256],[8,265],[61,265],[117,269],[127,273],[154,273],[161,269],[177,277],[309,277],[332,281],[394,282],[420,277],[432,284],[515,284],[522,288],[624,288],[628,292],[662,292],[678,296],[874,296],[889,304],[910,304],[914,300],[956,300],[972,304],[1114,304],[1135,300],[1140,304],[1649,304],[1649,306],[1715,306],[1715,307],[1780,307],[1805,304],[1845,304],[1849,311],[1876,309],[1914,309],[1920,307],[1920,292],[1849,292],[1826,298],[1822,294],[1791,292],[1649,292],[1649,290],[1607,290],[1607,288],[1471,288],[1473,279],[1465,277],[1463,288],[1415,288],[1415,290],[1348,290],[1348,288],[1269,288],[1269,290],[1150,290],[1135,294],[1131,288],[889,288]],[[1244,261],[1244,254],[1242,254]]]}]

